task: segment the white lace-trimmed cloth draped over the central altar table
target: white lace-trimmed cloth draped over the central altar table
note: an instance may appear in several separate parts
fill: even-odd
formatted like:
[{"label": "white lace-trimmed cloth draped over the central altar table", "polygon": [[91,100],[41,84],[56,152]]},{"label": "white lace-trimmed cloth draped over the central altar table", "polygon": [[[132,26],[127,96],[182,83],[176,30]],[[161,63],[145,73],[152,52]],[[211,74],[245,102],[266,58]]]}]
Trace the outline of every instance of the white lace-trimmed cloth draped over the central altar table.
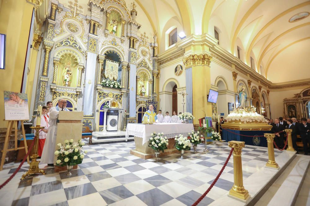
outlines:
[{"label": "white lace-trimmed cloth draped over the central altar table", "polygon": [[151,133],[163,132],[167,138],[174,138],[175,135],[179,136],[188,135],[188,132],[194,130],[193,124],[182,123],[154,123],[154,124],[127,124],[126,137],[133,135],[135,137],[143,138],[142,144],[147,143],[151,138]]}]

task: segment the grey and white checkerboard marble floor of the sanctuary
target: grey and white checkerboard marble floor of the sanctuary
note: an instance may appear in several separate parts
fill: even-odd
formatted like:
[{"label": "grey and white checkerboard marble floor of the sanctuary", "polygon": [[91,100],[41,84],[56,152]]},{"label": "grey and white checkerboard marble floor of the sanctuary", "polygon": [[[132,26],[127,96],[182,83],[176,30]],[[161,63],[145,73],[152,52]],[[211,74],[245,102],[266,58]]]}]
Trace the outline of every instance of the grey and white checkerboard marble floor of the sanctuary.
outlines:
[{"label": "grey and white checkerboard marble floor of the sanctuary", "polygon": [[[230,148],[227,143],[198,145],[197,153],[186,151],[144,160],[131,155],[134,142],[85,145],[85,158],[73,170],[54,173],[54,169],[41,164],[46,175],[35,175],[20,181],[29,168],[23,165],[14,179],[0,190],[1,205],[192,205],[215,179],[226,161]],[[275,150],[277,156],[280,151]],[[243,178],[246,179],[268,161],[267,148],[247,146],[242,152]],[[4,182],[19,163],[5,165],[0,172]],[[208,205],[224,195],[233,185],[233,160],[230,158],[223,174],[201,201]]]}]

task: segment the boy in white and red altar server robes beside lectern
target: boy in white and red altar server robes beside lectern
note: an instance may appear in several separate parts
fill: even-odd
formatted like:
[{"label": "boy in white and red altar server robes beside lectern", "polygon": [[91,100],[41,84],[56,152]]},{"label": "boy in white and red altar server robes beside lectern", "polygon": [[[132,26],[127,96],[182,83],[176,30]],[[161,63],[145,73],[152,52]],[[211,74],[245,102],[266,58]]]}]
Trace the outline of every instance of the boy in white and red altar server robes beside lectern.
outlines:
[{"label": "boy in white and red altar server robes beside lectern", "polygon": [[[37,117],[34,119],[34,125],[37,125]],[[41,116],[40,127],[44,127],[44,128],[39,130],[39,145],[38,145],[39,157],[42,156],[42,151],[43,151],[43,147],[44,147],[44,143],[45,143],[45,139],[47,136],[49,126],[50,125],[48,124],[47,108],[42,107],[42,116]]]}]

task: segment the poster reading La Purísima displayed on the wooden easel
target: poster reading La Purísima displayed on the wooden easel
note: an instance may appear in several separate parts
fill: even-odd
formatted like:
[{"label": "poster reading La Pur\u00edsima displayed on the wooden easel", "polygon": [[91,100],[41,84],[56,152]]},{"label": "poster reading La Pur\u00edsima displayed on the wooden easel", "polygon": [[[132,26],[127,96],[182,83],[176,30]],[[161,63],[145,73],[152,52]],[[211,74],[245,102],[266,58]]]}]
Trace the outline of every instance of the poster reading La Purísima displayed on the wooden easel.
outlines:
[{"label": "poster reading La Pur\u00edsima displayed on the wooden easel", "polygon": [[27,94],[4,91],[4,114],[5,120],[29,120]]}]

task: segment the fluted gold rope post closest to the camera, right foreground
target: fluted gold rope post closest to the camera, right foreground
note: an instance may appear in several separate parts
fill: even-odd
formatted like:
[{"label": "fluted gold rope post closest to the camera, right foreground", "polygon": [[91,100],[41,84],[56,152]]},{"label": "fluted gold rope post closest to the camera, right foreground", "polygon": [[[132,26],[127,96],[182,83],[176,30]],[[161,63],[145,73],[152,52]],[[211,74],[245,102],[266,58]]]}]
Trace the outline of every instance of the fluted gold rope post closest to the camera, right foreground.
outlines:
[{"label": "fluted gold rope post closest to the camera, right foreground", "polygon": [[245,142],[241,141],[229,141],[228,146],[234,148],[233,150],[233,176],[234,184],[229,191],[229,195],[237,197],[241,200],[246,200],[250,197],[249,192],[243,187],[243,176],[242,176],[242,162],[241,152],[245,146]]}]

